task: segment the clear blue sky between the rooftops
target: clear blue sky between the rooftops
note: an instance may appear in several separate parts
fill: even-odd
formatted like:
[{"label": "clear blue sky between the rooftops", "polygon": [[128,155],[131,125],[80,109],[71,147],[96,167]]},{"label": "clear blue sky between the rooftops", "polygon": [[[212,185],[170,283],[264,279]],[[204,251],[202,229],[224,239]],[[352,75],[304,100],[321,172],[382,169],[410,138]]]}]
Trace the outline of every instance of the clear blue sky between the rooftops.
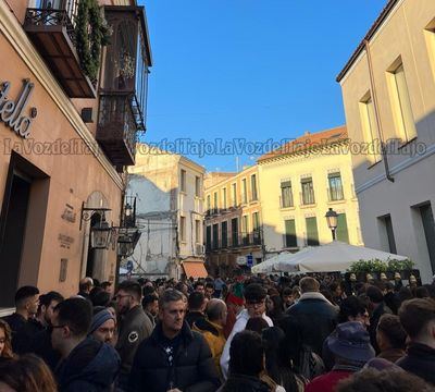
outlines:
[{"label": "clear blue sky between the rooftops", "polygon": [[208,170],[235,171],[236,156],[253,163],[272,140],[344,124],[336,75],[385,3],[142,1],[153,54],[142,139],[178,139]]}]

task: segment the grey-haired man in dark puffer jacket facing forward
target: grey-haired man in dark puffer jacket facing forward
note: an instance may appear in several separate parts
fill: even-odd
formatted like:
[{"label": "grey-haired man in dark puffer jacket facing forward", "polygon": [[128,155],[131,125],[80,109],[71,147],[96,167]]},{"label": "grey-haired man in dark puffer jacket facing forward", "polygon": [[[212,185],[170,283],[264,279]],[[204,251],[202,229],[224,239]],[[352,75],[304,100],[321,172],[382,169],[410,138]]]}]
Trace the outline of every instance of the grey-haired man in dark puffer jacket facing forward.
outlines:
[{"label": "grey-haired man in dark puffer jacket facing forward", "polygon": [[184,320],[183,294],[166,290],[151,336],[136,352],[129,378],[132,392],[214,392],[219,377],[209,345]]}]

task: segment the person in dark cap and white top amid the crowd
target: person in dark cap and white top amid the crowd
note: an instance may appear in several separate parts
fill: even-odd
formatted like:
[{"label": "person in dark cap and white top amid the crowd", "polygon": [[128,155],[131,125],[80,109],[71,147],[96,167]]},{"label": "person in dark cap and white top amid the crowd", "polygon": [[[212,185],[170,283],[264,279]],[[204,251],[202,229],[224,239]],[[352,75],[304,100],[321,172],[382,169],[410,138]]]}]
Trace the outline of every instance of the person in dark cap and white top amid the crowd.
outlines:
[{"label": "person in dark cap and white top amid the crowd", "polygon": [[268,296],[265,289],[261,284],[250,283],[246,286],[244,296],[246,309],[237,315],[236,323],[233,327],[221,356],[221,370],[224,379],[226,379],[228,375],[231,342],[237,332],[245,330],[248,320],[251,317],[262,317],[268,322],[269,327],[273,327],[273,321],[265,315],[265,297]]}]

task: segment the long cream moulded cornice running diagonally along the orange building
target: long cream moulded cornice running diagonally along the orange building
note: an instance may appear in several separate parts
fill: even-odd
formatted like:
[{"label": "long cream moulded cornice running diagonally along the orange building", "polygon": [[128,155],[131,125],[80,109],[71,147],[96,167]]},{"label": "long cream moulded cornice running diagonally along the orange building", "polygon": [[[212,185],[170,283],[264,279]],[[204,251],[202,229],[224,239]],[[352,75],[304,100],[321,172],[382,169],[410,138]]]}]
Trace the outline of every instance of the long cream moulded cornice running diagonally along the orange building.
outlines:
[{"label": "long cream moulded cornice running diagonally along the orange building", "polygon": [[25,34],[22,25],[16,20],[15,15],[4,0],[0,0],[0,32],[14,48],[16,53],[21,57],[26,66],[35,75],[41,86],[46,89],[48,95],[52,98],[54,103],[59,107],[61,112],[70,121],[70,124],[85,142],[86,146],[98,159],[100,164],[104,168],[107,173],[111,176],[113,182],[120,189],[124,188],[123,181],[116,170],[112,167],[104,154],[97,145],[90,131],[87,128],[82,118],[77,113],[74,105],[65,96],[65,93],[59,86],[54,76],[51,74],[46,63],[34,48],[33,44]]}]

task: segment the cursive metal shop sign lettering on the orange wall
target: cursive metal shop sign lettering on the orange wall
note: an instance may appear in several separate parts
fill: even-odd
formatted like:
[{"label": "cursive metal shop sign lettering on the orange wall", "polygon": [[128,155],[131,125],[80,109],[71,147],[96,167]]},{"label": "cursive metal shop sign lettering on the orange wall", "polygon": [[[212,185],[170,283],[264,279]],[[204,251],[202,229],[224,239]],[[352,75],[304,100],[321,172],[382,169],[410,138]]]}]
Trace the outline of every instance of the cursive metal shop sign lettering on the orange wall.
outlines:
[{"label": "cursive metal shop sign lettering on the orange wall", "polygon": [[23,114],[34,87],[34,83],[24,79],[23,88],[15,101],[8,97],[11,88],[10,82],[3,82],[0,90],[0,121],[25,138],[30,135],[32,119],[35,119],[37,114],[36,108],[32,108],[29,115]]}]

